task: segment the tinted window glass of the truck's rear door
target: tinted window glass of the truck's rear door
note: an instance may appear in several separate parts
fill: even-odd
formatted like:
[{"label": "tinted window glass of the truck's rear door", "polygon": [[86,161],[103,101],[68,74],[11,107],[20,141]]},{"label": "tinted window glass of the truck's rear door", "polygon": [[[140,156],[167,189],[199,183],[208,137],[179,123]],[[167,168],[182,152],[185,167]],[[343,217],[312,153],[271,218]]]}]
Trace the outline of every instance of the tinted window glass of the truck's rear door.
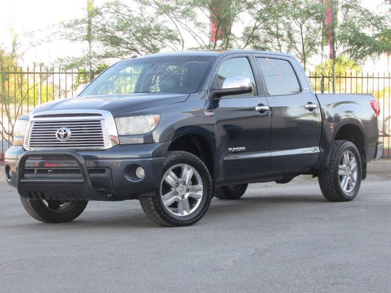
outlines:
[{"label": "tinted window glass of the truck's rear door", "polygon": [[266,88],[271,96],[300,92],[300,85],[289,62],[281,59],[257,58],[261,65]]}]

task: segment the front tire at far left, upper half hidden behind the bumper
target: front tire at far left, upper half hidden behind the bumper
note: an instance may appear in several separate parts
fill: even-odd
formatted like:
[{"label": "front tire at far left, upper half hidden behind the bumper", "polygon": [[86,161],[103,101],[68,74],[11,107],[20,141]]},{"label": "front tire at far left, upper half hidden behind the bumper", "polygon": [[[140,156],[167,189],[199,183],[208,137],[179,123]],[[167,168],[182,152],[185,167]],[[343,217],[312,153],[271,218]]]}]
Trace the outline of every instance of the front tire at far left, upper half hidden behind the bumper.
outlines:
[{"label": "front tire at far left, upper half hidden behind the bumper", "polygon": [[45,223],[65,223],[76,219],[88,201],[58,201],[22,198],[24,209],[34,219]]}]

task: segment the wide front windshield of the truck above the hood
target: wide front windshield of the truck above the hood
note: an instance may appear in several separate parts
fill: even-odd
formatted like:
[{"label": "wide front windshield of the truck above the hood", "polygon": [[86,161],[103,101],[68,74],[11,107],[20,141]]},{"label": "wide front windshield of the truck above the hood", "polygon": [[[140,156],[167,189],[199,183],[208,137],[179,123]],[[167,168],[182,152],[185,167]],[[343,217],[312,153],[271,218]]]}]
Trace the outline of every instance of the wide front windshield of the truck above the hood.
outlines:
[{"label": "wide front windshield of the truck above the hood", "polygon": [[80,96],[197,91],[211,63],[210,56],[139,58],[116,63],[98,76]]}]

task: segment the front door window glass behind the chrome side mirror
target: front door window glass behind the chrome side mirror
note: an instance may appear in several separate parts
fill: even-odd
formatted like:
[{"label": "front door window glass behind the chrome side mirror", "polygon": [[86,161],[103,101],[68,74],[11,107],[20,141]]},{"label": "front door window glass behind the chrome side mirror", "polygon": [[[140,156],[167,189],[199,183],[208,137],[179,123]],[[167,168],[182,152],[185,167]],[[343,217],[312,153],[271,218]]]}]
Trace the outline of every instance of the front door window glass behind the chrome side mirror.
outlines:
[{"label": "front door window glass behind the chrome side mirror", "polygon": [[222,88],[222,85],[226,78],[238,76],[248,77],[253,84],[253,91],[249,94],[235,95],[235,97],[257,96],[258,92],[257,86],[255,84],[253,71],[246,57],[233,58],[221,63],[220,67],[217,70],[217,76],[215,78],[213,87]]}]

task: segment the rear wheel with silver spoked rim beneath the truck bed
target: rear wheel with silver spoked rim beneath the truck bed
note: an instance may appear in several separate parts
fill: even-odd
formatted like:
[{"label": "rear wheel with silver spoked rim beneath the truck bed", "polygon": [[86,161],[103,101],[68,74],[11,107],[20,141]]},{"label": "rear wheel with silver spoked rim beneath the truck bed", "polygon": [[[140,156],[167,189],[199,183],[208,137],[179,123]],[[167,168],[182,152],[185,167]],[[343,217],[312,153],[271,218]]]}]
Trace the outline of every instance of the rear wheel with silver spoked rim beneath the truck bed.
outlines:
[{"label": "rear wheel with silver spoked rim beneath the truck bed", "polygon": [[330,164],[319,173],[319,186],[325,198],[332,202],[347,202],[355,198],[361,185],[362,169],[357,147],[348,141],[335,141]]}]

